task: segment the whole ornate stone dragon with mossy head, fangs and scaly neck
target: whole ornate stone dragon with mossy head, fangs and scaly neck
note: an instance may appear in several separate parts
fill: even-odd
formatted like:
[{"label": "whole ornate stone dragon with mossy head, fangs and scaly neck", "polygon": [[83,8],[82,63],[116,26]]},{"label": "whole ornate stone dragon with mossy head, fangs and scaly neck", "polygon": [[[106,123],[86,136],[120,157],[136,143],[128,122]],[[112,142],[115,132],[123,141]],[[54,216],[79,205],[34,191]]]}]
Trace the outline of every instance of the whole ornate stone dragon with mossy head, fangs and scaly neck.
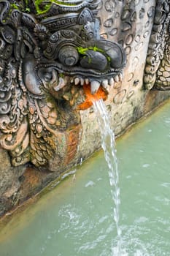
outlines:
[{"label": "whole ornate stone dragon with mossy head, fangs and scaly neck", "polygon": [[74,157],[67,138],[80,125],[85,86],[107,94],[121,77],[125,53],[100,37],[98,4],[0,0],[0,144],[12,165]]}]

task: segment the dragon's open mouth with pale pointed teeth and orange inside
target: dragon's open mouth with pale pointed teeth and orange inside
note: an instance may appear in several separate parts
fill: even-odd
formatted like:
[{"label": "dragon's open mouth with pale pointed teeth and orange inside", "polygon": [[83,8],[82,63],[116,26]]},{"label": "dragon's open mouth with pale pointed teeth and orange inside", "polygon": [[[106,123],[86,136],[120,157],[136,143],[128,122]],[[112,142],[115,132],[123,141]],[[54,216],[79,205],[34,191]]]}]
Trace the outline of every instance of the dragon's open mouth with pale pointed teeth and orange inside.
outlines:
[{"label": "dragon's open mouth with pale pointed teeth and orange inside", "polygon": [[[96,99],[107,99],[109,87],[122,80],[122,73],[107,77],[88,77],[81,71],[81,75],[67,75],[58,71],[54,65],[42,67],[38,70],[38,76],[43,83],[43,89],[50,91],[55,99],[65,99],[69,105],[77,110],[89,108]],[[87,70],[86,70],[87,71]],[[83,74],[83,75],[82,75]],[[39,89],[39,94],[42,91]]]}]

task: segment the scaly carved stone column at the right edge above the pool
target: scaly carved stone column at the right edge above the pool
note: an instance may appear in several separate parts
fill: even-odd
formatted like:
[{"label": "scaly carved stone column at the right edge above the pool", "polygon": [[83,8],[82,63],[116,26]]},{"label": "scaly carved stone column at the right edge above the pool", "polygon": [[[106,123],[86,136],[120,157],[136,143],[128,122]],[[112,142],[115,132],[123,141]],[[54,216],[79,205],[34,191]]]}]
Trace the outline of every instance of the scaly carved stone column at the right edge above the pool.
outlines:
[{"label": "scaly carved stone column at the right edge above the pool", "polygon": [[170,3],[158,0],[150,36],[144,74],[144,88],[170,89]]}]

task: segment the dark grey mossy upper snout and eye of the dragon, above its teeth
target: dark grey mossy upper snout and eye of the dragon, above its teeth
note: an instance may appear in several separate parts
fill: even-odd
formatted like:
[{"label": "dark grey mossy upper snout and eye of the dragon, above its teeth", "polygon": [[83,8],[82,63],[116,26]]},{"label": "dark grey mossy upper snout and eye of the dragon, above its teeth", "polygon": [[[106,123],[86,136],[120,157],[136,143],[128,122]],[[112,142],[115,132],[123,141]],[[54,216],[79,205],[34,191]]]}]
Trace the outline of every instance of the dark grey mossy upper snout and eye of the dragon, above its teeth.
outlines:
[{"label": "dark grey mossy upper snout and eye of the dragon, above its teeth", "polygon": [[121,45],[105,39],[85,42],[77,33],[69,30],[52,34],[43,53],[47,59],[56,61],[58,70],[71,75],[80,72],[85,76],[92,73],[96,77],[113,76],[125,66],[125,52]]}]

